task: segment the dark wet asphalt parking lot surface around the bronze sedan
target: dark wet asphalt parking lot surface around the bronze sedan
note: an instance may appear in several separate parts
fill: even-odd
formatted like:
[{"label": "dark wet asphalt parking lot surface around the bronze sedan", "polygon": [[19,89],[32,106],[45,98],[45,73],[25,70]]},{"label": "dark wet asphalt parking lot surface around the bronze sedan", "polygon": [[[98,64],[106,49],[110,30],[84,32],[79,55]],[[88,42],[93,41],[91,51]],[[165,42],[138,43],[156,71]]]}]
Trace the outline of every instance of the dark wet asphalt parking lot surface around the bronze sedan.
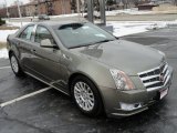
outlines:
[{"label": "dark wet asphalt parking lot surface around the bronze sedan", "polygon": [[[174,68],[168,95],[149,110],[125,119],[91,119],[71,99],[54,89],[0,108],[0,133],[176,133],[177,132],[177,28],[124,37],[162,50]],[[15,78],[9,60],[0,59],[0,104],[38,92],[48,85],[30,78]]]}]

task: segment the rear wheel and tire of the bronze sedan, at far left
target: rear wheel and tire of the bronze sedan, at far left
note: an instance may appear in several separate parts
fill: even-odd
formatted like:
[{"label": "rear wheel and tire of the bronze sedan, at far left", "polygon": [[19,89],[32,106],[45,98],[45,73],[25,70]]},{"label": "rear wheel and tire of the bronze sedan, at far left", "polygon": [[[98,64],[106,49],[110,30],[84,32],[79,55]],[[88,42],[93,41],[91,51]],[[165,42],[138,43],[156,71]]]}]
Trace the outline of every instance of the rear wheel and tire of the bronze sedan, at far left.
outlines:
[{"label": "rear wheel and tire of the bronze sedan, at far left", "polygon": [[10,64],[11,64],[11,68],[12,68],[12,71],[13,73],[17,75],[17,76],[22,76],[24,75],[24,72],[22,71],[21,66],[20,66],[20,63],[17,59],[17,57],[11,53],[10,54]]}]

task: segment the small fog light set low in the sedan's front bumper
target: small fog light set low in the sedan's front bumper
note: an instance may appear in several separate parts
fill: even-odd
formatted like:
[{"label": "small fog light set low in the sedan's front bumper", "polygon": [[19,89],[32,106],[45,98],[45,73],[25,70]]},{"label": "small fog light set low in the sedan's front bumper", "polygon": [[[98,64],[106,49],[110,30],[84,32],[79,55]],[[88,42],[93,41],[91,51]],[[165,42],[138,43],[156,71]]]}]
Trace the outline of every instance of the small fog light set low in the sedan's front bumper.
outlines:
[{"label": "small fog light set low in the sedan's front bumper", "polygon": [[129,104],[129,103],[119,102],[119,105],[121,105],[121,109],[125,111],[133,111],[133,110],[142,108],[142,103]]}]

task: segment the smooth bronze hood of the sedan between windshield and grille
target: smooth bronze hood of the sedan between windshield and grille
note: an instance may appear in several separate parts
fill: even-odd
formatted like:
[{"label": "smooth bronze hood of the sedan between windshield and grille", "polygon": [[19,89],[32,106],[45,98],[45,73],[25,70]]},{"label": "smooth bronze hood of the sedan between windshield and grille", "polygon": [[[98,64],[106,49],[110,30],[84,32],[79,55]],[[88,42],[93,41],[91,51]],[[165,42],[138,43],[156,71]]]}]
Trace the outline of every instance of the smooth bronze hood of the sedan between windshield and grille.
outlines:
[{"label": "smooth bronze hood of the sedan between windshield and grille", "polygon": [[157,50],[125,40],[76,48],[72,51],[102,62],[110,69],[122,70],[128,75],[137,75],[138,72],[156,68],[164,61]]}]

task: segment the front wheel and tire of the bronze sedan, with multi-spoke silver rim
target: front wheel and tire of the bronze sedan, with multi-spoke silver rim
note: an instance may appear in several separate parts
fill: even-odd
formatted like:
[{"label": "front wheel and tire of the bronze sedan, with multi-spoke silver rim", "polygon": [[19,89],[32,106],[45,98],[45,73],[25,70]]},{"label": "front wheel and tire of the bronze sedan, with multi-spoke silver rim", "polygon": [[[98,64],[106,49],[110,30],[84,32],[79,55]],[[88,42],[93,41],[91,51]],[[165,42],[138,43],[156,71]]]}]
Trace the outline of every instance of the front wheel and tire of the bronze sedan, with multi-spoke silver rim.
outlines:
[{"label": "front wheel and tire of the bronze sedan, with multi-spoke silver rim", "polygon": [[103,103],[94,83],[85,76],[76,76],[71,84],[72,98],[80,111],[88,116],[98,116]]}]

